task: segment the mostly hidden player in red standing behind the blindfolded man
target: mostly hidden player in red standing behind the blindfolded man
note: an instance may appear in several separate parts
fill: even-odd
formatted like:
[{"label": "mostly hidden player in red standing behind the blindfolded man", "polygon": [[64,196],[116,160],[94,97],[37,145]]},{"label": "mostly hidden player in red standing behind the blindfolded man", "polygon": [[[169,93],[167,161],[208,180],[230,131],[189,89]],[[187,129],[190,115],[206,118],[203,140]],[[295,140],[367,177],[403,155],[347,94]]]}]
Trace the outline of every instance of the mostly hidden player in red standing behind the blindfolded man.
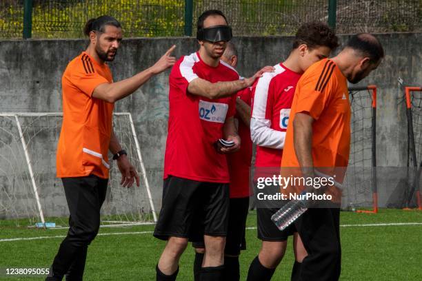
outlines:
[{"label": "mostly hidden player in red standing behind the blindfolded man", "polygon": [[[232,67],[237,66],[237,48],[228,42],[221,56],[221,61]],[[237,94],[236,114],[234,121],[241,138],[239,151],[227,154],[230,174],[230,207],[228,218],[228,232],[224,247],[224,280],[240,280],[239,255],[246,249],[245,227],[249,210],[250,190],[250,163],[252,160],[252,141],[250,139],[250,114],[252,104],[252,88],[247,87]],[[194,276],[199,280],[205,253],[203,241],[194,242],[195,248]]]}]

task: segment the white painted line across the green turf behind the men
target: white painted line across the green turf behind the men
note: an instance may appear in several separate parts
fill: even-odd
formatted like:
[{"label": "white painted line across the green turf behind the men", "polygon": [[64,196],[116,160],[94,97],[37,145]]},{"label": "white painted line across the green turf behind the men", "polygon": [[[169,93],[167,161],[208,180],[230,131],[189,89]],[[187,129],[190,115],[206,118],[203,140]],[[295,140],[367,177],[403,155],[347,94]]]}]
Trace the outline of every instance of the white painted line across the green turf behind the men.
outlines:
[{"label": "white painted line across the green turf behind the men", "polygon": [[[362,225],[340,225],[340,227],[399,227],[405,225],[422,225],[422,222],[392,222],[392,223],[369,223]],[[257,227],[246,227],[248,230],[257,229]],[[153,231],[129,231],[129,232],[112,232],[112,233],[99,233],[97,236],[114,236],[114,235],[135,235],[135,234],[151,234]],[[13,241],[28,241],[28,240],[42,240],[50,238],[64,238],[64,235],[58,236],[39,236],[27,238],[6,238],[0,239],[0,242],[13,242]]]}]

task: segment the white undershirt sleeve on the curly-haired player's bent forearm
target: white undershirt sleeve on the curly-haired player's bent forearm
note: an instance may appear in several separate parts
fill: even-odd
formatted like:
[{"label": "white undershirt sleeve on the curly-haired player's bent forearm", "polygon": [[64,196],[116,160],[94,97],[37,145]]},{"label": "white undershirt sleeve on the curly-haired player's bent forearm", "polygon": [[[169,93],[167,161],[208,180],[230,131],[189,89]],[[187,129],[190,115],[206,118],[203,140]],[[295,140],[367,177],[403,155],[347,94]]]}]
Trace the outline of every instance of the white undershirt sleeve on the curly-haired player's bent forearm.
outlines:
[{"label": "white undershirt sleeve on the curly-haired player's bent forearm", "polygon": [[250,138],[252,143],[261,147],[283,149],[285,132],[271,129],[271,121],[268,119],[251,118]]}]

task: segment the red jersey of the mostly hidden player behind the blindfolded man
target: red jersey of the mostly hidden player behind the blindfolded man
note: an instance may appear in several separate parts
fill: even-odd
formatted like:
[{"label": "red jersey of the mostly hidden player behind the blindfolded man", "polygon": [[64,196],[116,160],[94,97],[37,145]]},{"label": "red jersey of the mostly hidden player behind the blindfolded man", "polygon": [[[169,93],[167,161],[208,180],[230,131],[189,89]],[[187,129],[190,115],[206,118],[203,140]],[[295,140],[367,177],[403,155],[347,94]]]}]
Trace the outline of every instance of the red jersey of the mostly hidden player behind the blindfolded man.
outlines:
[{"label": "red jersey of the mostly hidden player behind the blindfolded man", "polygon": [[[237,96],[249,106],[252,105],[252,89],[250,87],[237,93]],[[237,132],[241,138],[241,148],[238,152],[227,154],[230,173],[230,198],[242,198],[250,196],[250,162],[252,160],[252,141],[250,129],[241,118]]]}]

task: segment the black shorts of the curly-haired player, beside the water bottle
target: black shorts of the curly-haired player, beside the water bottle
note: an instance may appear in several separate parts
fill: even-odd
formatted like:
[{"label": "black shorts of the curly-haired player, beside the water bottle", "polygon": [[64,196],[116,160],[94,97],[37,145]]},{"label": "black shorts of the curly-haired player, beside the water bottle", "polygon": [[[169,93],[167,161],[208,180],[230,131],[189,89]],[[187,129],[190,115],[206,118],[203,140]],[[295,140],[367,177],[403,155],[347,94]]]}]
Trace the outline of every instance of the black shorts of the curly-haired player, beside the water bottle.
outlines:
[{"label": "black shorts of the curly-haired player, beside the water bottle", "polygon": [[292,236],[294,232],[297,232],[294,224],[283,231],[280,231],[276,225],[274,225],[271,216],[278,210],[278,208],[257,208],[258,238],[260,240],[285,241],[288,240],[288,236]]}]

